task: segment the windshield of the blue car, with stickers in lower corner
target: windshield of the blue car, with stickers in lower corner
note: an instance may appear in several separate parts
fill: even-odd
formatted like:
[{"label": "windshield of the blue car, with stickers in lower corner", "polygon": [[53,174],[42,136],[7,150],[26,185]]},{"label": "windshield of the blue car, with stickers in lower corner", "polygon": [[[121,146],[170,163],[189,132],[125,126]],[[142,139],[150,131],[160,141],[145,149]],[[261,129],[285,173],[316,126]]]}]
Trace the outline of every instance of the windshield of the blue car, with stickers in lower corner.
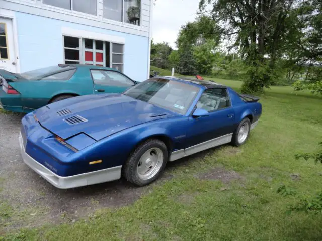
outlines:
[{"label": "windshield of the blue car, with stickers in lower corner", "polygon": [[179,81],[153,78],[126,90],[125,95],[185,114],[199,88]]}]

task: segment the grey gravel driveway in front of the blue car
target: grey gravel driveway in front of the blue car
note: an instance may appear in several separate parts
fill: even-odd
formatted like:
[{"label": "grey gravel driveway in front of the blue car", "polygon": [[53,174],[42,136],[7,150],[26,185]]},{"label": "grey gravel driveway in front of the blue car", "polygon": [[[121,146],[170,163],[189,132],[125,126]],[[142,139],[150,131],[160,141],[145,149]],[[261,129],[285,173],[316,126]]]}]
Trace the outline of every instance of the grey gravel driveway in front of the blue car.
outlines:
[{"label": "grey gravel driveway in front of the blue car", "polygon": [[0,236],[17,227],[91,217],[98,209],[133,203],[151,189],[133,187],[122,179],[68,190],[53,187],[20,156],[18,136],[23,116],[0,112]]}]

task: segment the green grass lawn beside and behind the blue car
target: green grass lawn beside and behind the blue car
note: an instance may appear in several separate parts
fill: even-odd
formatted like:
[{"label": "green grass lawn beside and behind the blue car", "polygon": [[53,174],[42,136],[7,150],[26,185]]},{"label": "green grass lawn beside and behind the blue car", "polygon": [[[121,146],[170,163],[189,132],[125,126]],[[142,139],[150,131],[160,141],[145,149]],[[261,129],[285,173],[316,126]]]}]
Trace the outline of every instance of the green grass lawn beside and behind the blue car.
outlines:
[{"label": "green grass lawn beside and behind the blue car", "polygon": [[[236,90],[241,85],[212,80]],[[272,87],[260,102],[260,123],[244,146],[225,145],[171,163],[166,172],[173,178],[155,184],[132,205],[102,209],[96,218],[73,224],[17,230],[5,239],[321,240],[322,214],[287,210],[322,190],[322,165],[294,159],[322,141],[322,98]],[[198,178],[210,170],[240,178],[229,183]],[[277,194],[283,184],[295,196]]]}]

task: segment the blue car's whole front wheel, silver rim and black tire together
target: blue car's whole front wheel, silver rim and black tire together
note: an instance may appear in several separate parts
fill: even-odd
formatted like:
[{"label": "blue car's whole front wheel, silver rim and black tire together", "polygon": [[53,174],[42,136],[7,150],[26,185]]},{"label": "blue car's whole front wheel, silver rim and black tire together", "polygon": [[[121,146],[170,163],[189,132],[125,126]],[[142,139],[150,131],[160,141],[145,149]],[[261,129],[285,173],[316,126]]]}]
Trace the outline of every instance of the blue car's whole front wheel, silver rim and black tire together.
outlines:
[{"label": "blue car's whole front wheel, silver rim and black tire together", "polygon": [[123,167],[123,175],[134,185],[150,184],[162,173],[167,160],[166,144],[158,139],[149,139],[132,152]]}]

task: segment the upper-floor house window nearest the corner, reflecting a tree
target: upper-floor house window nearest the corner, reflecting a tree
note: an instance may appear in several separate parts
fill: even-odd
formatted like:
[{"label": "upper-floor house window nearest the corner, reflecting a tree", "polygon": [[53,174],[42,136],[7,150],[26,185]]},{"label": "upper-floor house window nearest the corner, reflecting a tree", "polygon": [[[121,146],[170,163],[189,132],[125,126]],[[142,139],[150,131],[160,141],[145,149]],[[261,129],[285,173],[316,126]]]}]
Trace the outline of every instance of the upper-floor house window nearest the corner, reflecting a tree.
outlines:
[{"label": "upper-floor house window nearest the corner, reflecting a tree", "polygon": [[103,7],[105,19],[140,25],[141,0],[104,0]]}]

